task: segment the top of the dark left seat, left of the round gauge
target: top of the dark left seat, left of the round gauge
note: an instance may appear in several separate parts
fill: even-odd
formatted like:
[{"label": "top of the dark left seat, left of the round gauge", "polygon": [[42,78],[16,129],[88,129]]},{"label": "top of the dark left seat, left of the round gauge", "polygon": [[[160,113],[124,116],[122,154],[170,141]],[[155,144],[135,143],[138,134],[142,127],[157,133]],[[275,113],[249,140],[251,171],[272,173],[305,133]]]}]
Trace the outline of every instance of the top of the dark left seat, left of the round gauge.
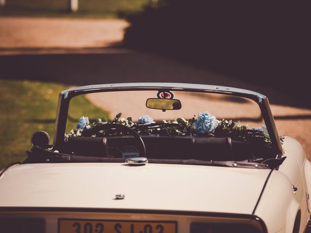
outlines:
[{"label": "top of the dark left seat, left of the round gauge", "polygon": [[108,157],[108,142],[105,137],[69,137],[68,150],[83,156]]}]

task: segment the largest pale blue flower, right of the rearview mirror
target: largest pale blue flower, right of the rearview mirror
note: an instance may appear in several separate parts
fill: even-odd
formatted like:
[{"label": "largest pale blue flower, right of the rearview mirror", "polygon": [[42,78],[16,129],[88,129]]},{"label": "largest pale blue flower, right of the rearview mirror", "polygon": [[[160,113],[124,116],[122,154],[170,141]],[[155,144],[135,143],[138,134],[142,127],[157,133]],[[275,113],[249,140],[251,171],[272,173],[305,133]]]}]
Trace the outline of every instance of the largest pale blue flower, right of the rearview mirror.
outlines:
[{"label": "largest pale blue flower, right of the rearview mirror", "polygon": [[199,133],[213,133],[218,123],[215,116],[208,112],[198,114],[198,119],[193,123],[193,127]]}]

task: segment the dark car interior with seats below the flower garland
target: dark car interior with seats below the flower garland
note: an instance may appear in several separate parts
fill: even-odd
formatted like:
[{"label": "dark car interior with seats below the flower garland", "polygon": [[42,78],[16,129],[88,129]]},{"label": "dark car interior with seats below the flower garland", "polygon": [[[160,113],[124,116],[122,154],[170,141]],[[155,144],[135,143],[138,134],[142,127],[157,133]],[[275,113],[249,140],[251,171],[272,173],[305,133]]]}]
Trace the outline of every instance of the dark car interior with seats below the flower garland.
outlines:
[{"label": "dark car interior with seats below the flower garland", "polygon": [[[230,137],[141,136],[148,159],[195,159],[202,161],[242,161],[273,157],[269,146],[258,146]],[[139,141],[129,135],[110,137],[70,137],[66,151],[92,157],[139,157]],[[123,152],[124,149],[130,150]]]}]

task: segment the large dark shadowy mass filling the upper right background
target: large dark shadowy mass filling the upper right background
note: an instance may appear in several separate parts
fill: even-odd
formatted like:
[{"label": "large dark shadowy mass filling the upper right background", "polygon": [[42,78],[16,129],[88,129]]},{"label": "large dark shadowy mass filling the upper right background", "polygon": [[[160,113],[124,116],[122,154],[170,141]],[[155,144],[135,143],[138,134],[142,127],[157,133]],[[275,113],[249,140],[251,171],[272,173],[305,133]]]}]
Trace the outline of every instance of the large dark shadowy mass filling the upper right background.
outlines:
[{"label": "large dark shadowy mass filling the upper right background", "polygon": [[[127,17],[124,45],[273,87],[300,98],[289,104],[310,107],[306,9],[286,1],[161,0]],[[269,97],[290,100],[273,92]]]}]

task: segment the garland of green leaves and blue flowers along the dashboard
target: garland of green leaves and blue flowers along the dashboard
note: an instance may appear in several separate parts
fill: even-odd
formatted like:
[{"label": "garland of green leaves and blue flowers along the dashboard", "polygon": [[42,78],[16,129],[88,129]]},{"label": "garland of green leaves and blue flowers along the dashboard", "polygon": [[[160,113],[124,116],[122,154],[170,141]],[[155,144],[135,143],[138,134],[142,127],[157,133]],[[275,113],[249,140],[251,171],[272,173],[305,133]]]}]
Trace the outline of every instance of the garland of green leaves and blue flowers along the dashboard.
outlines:
[{"label": "garland of green leaves and blue flowers along the dashboard", "polygon": [[[92,125],[89,125],[88,117],[82,116],[79,119],[77,130],[71,130],[65,134],[65,139],[69,137],[80,136],[104,136],[104,135],[122,135],[123,132],[113,130],[99,130],[101,125],[112,123],[125,125],[135,130],[140,135],[157,134],[167,136],[177,135],[203,135],[214,137],[231,137],[245,142],[256,144],[271,145],[269,134],[265,127],[258,127],[249,129],[247,125],[241,125],[240,122],[233,122],[232,120],[218,120],[215,116],[208,112],[199,113],[198,116],[193,116],[191,119],[177,118],[174,121],[165,121],[162,123],[155,123],[150,116],[140,116],[138,123],[133,122],[132,117],[122,118],[119,113],[113,120],[105,118],[97,118]],[[161,125],[161,126],[160,126]],[[89,133],[92,132],[91,135]],[[95,133],[94,133],[95,132]],[[283,142],[284,137],[280,137]]]}]

